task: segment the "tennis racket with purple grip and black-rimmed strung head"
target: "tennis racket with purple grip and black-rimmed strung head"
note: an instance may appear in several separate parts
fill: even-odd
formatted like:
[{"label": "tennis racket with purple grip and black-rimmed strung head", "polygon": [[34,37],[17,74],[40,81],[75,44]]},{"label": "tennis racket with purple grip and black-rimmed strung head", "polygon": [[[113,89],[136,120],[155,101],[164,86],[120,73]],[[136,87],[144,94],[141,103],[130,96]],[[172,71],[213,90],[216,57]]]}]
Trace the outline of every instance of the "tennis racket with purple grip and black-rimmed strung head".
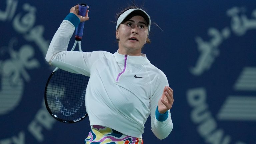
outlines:
[{"label": "tennis racket with purple grip and black-rimmed strung head", "polygon": [[[79,4],[79,15],[85,16],[88,6]],[[84,22],[76,28],[75,43],[81,49]],[[85,92],[89,77],[55,68],[46,83],[44,100],[48,112],[58,121],[75,123],[83,120],[88,114],[85,109]]]}]

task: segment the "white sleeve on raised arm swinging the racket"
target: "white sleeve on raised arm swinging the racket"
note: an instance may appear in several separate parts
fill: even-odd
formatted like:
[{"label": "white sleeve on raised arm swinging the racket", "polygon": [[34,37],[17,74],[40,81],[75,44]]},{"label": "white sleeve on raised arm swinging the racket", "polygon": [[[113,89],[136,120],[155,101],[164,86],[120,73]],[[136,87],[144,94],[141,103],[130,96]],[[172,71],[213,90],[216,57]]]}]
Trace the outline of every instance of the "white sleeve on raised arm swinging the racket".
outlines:
[{"label": "white sleeve on raised arm swinging the racket", "polygon": [[68,44],[74,30],[75,27],[70,21],[63,20],[53,36],[45,59],[50,65],[60,69],[90,76],[92,64],[102,55],[104,55],[104,52],[67,51]]}]

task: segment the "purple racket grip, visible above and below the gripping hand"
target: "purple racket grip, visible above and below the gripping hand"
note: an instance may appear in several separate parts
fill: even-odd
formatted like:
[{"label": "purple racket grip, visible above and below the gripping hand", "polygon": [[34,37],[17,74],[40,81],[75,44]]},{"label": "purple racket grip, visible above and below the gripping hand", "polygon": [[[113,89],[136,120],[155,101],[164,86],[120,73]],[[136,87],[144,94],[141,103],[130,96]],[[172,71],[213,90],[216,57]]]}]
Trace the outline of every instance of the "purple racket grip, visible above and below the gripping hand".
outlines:
[{"label": "purple racket grip, visible above and below the gripping hand", "polygon": [[[78,14],[81,16],[86,15],[86,10],[88,6],[84,3],[79,4],[79,12]],[[76,33],[75,33],[75,40],[76,41],[81,41],[82,36],[83,36],[83,30],[84,30],[84,22],[79,23],[78,27],[76,28]]]}]

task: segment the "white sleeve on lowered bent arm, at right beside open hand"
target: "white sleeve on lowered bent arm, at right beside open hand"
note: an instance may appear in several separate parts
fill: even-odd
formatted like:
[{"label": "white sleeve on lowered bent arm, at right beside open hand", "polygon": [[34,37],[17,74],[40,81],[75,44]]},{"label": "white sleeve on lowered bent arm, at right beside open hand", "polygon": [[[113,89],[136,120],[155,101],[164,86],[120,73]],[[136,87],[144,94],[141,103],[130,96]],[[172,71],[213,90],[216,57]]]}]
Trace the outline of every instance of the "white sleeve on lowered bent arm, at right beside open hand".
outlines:
[{"label": "white sleeve on lowered bent arm, at right beside open hand", "polygon": [[164,87],[167,85],[167,78],[165,74],[161,72],[158,80],[155,82],[154,95],[150,98],[151,130],[154,135],[159,139],[166,138],[171,133],[173,128],[170,110],[168,110],[168,118],[166,120],[158,121],[156,119],[156,108],[158,105],[158,101],[161,98]]}]

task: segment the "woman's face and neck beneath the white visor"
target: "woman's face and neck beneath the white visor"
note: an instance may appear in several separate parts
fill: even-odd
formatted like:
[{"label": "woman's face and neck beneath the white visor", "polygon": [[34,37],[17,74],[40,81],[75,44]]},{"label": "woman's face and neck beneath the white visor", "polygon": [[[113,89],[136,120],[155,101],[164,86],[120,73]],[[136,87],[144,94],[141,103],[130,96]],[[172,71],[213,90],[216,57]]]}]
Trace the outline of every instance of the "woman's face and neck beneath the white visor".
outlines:
[{"label": "woman's face and neck beneath the white visor", "polygon": [[127,55],[140,55],[141,48],[146,43],[148,27],[142,16],[134,16],[119,25],[116,38],[119,39],[118,52]]}]

